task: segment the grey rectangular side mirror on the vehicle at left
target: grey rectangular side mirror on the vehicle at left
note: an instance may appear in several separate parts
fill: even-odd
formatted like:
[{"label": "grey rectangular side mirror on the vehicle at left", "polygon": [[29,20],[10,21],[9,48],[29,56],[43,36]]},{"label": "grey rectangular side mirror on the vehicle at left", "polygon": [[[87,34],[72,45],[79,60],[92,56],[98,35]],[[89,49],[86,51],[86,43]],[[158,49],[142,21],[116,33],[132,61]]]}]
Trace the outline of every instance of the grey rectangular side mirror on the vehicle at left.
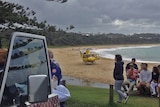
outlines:
[{"label": "grey rectangular side mirror on the vehicle at left", "polygon": [[37,103],[48,100],[47,75],[30,75],[28,77],[28,102]]}]

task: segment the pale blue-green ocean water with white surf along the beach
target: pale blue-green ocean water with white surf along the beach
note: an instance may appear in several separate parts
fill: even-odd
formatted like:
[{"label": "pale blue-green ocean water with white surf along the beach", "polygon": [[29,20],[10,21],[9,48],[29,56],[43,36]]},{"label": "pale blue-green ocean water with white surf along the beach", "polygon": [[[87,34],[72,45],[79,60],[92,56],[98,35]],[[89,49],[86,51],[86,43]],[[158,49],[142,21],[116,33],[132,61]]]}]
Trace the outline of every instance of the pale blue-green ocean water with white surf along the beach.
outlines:
[{"label": "pale blue-green ocean water with white surf along the beach", "polygon": [[121,54],[123,60],[136,58],[137,62],[160,63],[160,45],[97,49],[95,52],[103,58],[114,59],[115,54]]}]

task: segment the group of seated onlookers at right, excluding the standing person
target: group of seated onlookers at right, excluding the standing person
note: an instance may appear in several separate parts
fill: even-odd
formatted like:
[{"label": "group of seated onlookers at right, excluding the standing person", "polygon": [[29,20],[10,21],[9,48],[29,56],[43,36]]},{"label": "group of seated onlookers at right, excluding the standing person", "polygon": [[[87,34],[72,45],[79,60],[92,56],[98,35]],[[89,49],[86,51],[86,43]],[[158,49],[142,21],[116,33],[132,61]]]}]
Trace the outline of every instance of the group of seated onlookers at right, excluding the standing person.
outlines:
[{"label": "group of seated onlookers at right, excluding the standing person", "polygon": [[134,87],[139,95],[159,97],[160,94],[160,65],[154,66],[152,72],[148,70],[147,63],[141,63],[138,68],[136,59],[126,65],[126,77],[122,86],[128,95]]}]

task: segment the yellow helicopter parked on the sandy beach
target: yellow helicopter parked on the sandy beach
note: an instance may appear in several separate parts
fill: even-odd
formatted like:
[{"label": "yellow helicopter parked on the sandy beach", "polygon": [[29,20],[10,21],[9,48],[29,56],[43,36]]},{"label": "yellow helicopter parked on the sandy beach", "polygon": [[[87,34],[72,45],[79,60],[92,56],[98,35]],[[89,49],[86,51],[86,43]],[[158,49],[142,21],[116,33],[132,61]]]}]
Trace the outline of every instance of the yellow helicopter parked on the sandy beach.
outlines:
[{"label": "yellow helicopter parked on the sandy beach", "polygon": [[92,48],[87,48],[86,50],[81,50],[80,55],[84,63],[94,63],[96,60],[99,60],[99,54],[92,52]]}]

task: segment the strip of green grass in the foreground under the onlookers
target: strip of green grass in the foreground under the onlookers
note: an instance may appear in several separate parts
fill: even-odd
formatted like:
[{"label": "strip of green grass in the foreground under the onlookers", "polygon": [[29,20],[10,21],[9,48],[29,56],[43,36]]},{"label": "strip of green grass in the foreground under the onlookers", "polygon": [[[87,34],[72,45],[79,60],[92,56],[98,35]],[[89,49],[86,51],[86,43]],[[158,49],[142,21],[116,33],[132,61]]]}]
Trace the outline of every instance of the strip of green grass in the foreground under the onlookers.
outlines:
[{"label": "strip of green grass in the foreground under the onlookers", "polygon": [[[66,107],[158,107],[158,98],[130,96],[128,103],[113,103],[109,105],[109,90],[101,88],[67,86],[71,98]],[[118,99],[114,92],[114,100]]]}]

